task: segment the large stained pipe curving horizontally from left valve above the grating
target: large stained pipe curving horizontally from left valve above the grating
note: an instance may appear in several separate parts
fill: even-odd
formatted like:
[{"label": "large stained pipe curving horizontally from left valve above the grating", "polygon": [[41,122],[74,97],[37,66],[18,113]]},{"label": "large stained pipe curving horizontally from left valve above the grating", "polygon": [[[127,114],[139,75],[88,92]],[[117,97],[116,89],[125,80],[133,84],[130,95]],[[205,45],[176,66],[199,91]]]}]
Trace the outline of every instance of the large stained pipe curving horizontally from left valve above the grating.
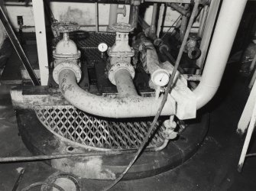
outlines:
[{"label": "large stained pipe curving horizontally from left valve above the grating", "polygon": [[[92,115],[106,118],[137,118],[157,114],[157,108],[163,99],[131,95],[116,99],[98,96],[81,89],[76,83],[76,75],[72,70],[63,69],[59,74],[59,86],[64,98],[76,108]],[[174,115],[176,111],[174,99],[168,95],[161,115]]]}]

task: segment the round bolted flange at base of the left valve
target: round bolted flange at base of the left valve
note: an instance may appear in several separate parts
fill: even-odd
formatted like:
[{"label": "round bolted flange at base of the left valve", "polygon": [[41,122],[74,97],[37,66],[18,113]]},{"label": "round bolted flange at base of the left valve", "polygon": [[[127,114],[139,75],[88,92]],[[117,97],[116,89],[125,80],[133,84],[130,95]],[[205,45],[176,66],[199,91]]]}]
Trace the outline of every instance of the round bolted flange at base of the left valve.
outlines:
[{"label": "round bolted flange at base of the left valve", "polygon": [[72,70],[73,73],[76,75],[76,81],[79,83],[80,79],[82,78],[82,71],[80,67],[73,61],[63,61],[59,63],[53,70],[53,79],[54,81],[59,84],[59,74],[62,70]]}]

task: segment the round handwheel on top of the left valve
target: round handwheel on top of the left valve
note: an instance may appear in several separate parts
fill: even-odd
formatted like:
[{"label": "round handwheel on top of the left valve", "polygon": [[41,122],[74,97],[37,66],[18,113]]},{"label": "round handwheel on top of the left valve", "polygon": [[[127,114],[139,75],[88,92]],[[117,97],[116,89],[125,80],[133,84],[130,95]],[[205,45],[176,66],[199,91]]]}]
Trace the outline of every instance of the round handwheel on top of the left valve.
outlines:
[{"label": "round handwheel on top of the left valve", "polygon": [[54,22],[52,24],[54,31],[59,31],[60,33],[70,33],[79,30],[79,25],[76,22]]}]

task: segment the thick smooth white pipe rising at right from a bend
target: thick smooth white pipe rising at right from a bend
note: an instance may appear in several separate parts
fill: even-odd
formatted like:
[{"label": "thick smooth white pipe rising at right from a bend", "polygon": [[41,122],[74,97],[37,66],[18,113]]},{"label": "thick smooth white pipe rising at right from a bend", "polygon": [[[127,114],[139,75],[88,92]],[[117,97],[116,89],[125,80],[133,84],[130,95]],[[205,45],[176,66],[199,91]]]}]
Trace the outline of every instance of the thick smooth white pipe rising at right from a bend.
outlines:
[{"label": "thick smooth white pipe rising at right from a bend", "polygon": [[222,2],[203,76],[199,86],[193,91],[196,94],[197,108],[206,105],[219,88],[246,2],[247,0]]}]

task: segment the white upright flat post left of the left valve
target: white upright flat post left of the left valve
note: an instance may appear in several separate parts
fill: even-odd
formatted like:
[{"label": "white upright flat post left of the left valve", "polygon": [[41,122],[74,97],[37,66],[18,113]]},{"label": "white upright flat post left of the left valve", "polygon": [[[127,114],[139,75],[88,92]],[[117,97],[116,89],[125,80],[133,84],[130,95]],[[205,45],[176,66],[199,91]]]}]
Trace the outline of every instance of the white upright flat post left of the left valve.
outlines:
[{"label": "white upright flat post left of the left valve", "polygon": [[34,27],[37,37],[37,57],[41,76],[41,86],[47,86],[49,79],[49,65],[44,21],[44,1],[32,0],[32,5],[34,12]]}]

